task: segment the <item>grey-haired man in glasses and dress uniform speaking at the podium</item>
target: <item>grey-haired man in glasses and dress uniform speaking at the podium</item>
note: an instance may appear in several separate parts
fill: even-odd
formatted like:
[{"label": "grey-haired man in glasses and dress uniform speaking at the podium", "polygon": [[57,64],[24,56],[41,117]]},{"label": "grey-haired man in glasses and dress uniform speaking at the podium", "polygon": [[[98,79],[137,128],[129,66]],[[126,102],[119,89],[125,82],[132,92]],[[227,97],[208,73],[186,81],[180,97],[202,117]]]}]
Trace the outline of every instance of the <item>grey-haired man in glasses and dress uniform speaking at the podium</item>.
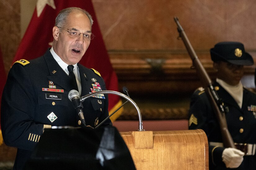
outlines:
[{"label": "grey-haired man in glasses and dress uniform speaking at the podium", "polygon": [[[37,59],[13,64],[1,109],[4,142],[18,148],[13,169],[25,166],[45,128],[84,126],[68,98],[70,90],[76,89],[80,96],[106,90],[96,70],[78,63],[94,37],[92,23],[87,11],[75,7],[62,10],[52,29],[52,48]],[[88,98],[83,107],[86,125],[91,127],[109,115],[105,94]],[[112,125],[110,119],[102,124],[107,125]]]}]

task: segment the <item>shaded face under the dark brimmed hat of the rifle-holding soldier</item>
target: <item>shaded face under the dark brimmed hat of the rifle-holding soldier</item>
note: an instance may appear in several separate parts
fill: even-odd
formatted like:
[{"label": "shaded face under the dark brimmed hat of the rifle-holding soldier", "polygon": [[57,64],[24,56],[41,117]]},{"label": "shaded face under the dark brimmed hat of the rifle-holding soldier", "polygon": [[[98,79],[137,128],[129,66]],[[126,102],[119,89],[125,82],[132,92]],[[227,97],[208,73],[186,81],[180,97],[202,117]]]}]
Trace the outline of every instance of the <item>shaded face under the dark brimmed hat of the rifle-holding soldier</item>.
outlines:
[{"label": "shaded face under the dark brimmed hat of the rifle-holding soldier", "polygon": [[217,77],[230,85],[237,85],[244,75],[244,66],[238,66],[229,62],[214,62],[214,68],[217,71]]}]

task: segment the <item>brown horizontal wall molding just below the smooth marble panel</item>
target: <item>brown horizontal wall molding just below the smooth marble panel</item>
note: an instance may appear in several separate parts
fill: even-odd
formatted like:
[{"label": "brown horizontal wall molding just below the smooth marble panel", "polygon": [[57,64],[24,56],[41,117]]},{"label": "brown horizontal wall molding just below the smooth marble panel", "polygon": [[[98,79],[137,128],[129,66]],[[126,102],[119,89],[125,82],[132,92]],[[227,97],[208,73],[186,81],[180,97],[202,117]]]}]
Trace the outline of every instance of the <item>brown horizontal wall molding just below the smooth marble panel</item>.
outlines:
[{"label": "brown horizontal wall molding just below the smooth marble panel", "polygon": [[[110,61],[119,79],[120,91],[126,86],[136,94],[157,91],[168,93],[192,92],[201,86],[192,61],[186,51],[108,51]],[[208,51],[197,51],[197,56],[213,80],[216,71]],[[256,52],[249,51],[255,56]],[[255,58],[254,58],[255,60]],[[255,66],[246,66],[245,75],[253,75]]]}]

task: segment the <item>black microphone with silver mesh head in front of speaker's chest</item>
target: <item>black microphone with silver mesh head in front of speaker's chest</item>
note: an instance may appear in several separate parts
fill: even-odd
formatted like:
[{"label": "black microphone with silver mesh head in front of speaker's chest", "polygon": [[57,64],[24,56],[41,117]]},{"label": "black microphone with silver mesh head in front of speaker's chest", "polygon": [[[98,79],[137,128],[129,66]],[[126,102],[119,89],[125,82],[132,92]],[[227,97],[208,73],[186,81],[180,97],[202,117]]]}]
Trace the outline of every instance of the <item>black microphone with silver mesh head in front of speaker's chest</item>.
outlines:
[{"label": "black microphone with silver mesh head in front of speaker's chest", "polygon": [[69,97],[69,100],[72,101],[73,106],[76,109],[83,125],[86,126],[84,116],[83,116],[83,110],[82,110],[83,104],[79,100],[79,98],[80,98],[79,92],[76,90],[71,90],[69,92],[68,97]]}]

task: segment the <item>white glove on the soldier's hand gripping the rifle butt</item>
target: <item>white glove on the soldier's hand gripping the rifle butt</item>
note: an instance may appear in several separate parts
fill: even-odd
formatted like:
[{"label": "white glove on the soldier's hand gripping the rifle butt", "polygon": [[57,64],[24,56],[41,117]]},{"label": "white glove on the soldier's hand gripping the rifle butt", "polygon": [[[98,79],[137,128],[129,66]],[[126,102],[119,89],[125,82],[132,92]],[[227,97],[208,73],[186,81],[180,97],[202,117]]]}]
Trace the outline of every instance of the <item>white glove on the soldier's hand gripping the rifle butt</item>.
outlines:
[{"label": "white glove on the soldier's hand gripping the rifle butt", "polygon": [[222,161],[226,164],[227,168],[237,168],[243,162],[244,155],[244,152],[229,147],[222,152]]}]

